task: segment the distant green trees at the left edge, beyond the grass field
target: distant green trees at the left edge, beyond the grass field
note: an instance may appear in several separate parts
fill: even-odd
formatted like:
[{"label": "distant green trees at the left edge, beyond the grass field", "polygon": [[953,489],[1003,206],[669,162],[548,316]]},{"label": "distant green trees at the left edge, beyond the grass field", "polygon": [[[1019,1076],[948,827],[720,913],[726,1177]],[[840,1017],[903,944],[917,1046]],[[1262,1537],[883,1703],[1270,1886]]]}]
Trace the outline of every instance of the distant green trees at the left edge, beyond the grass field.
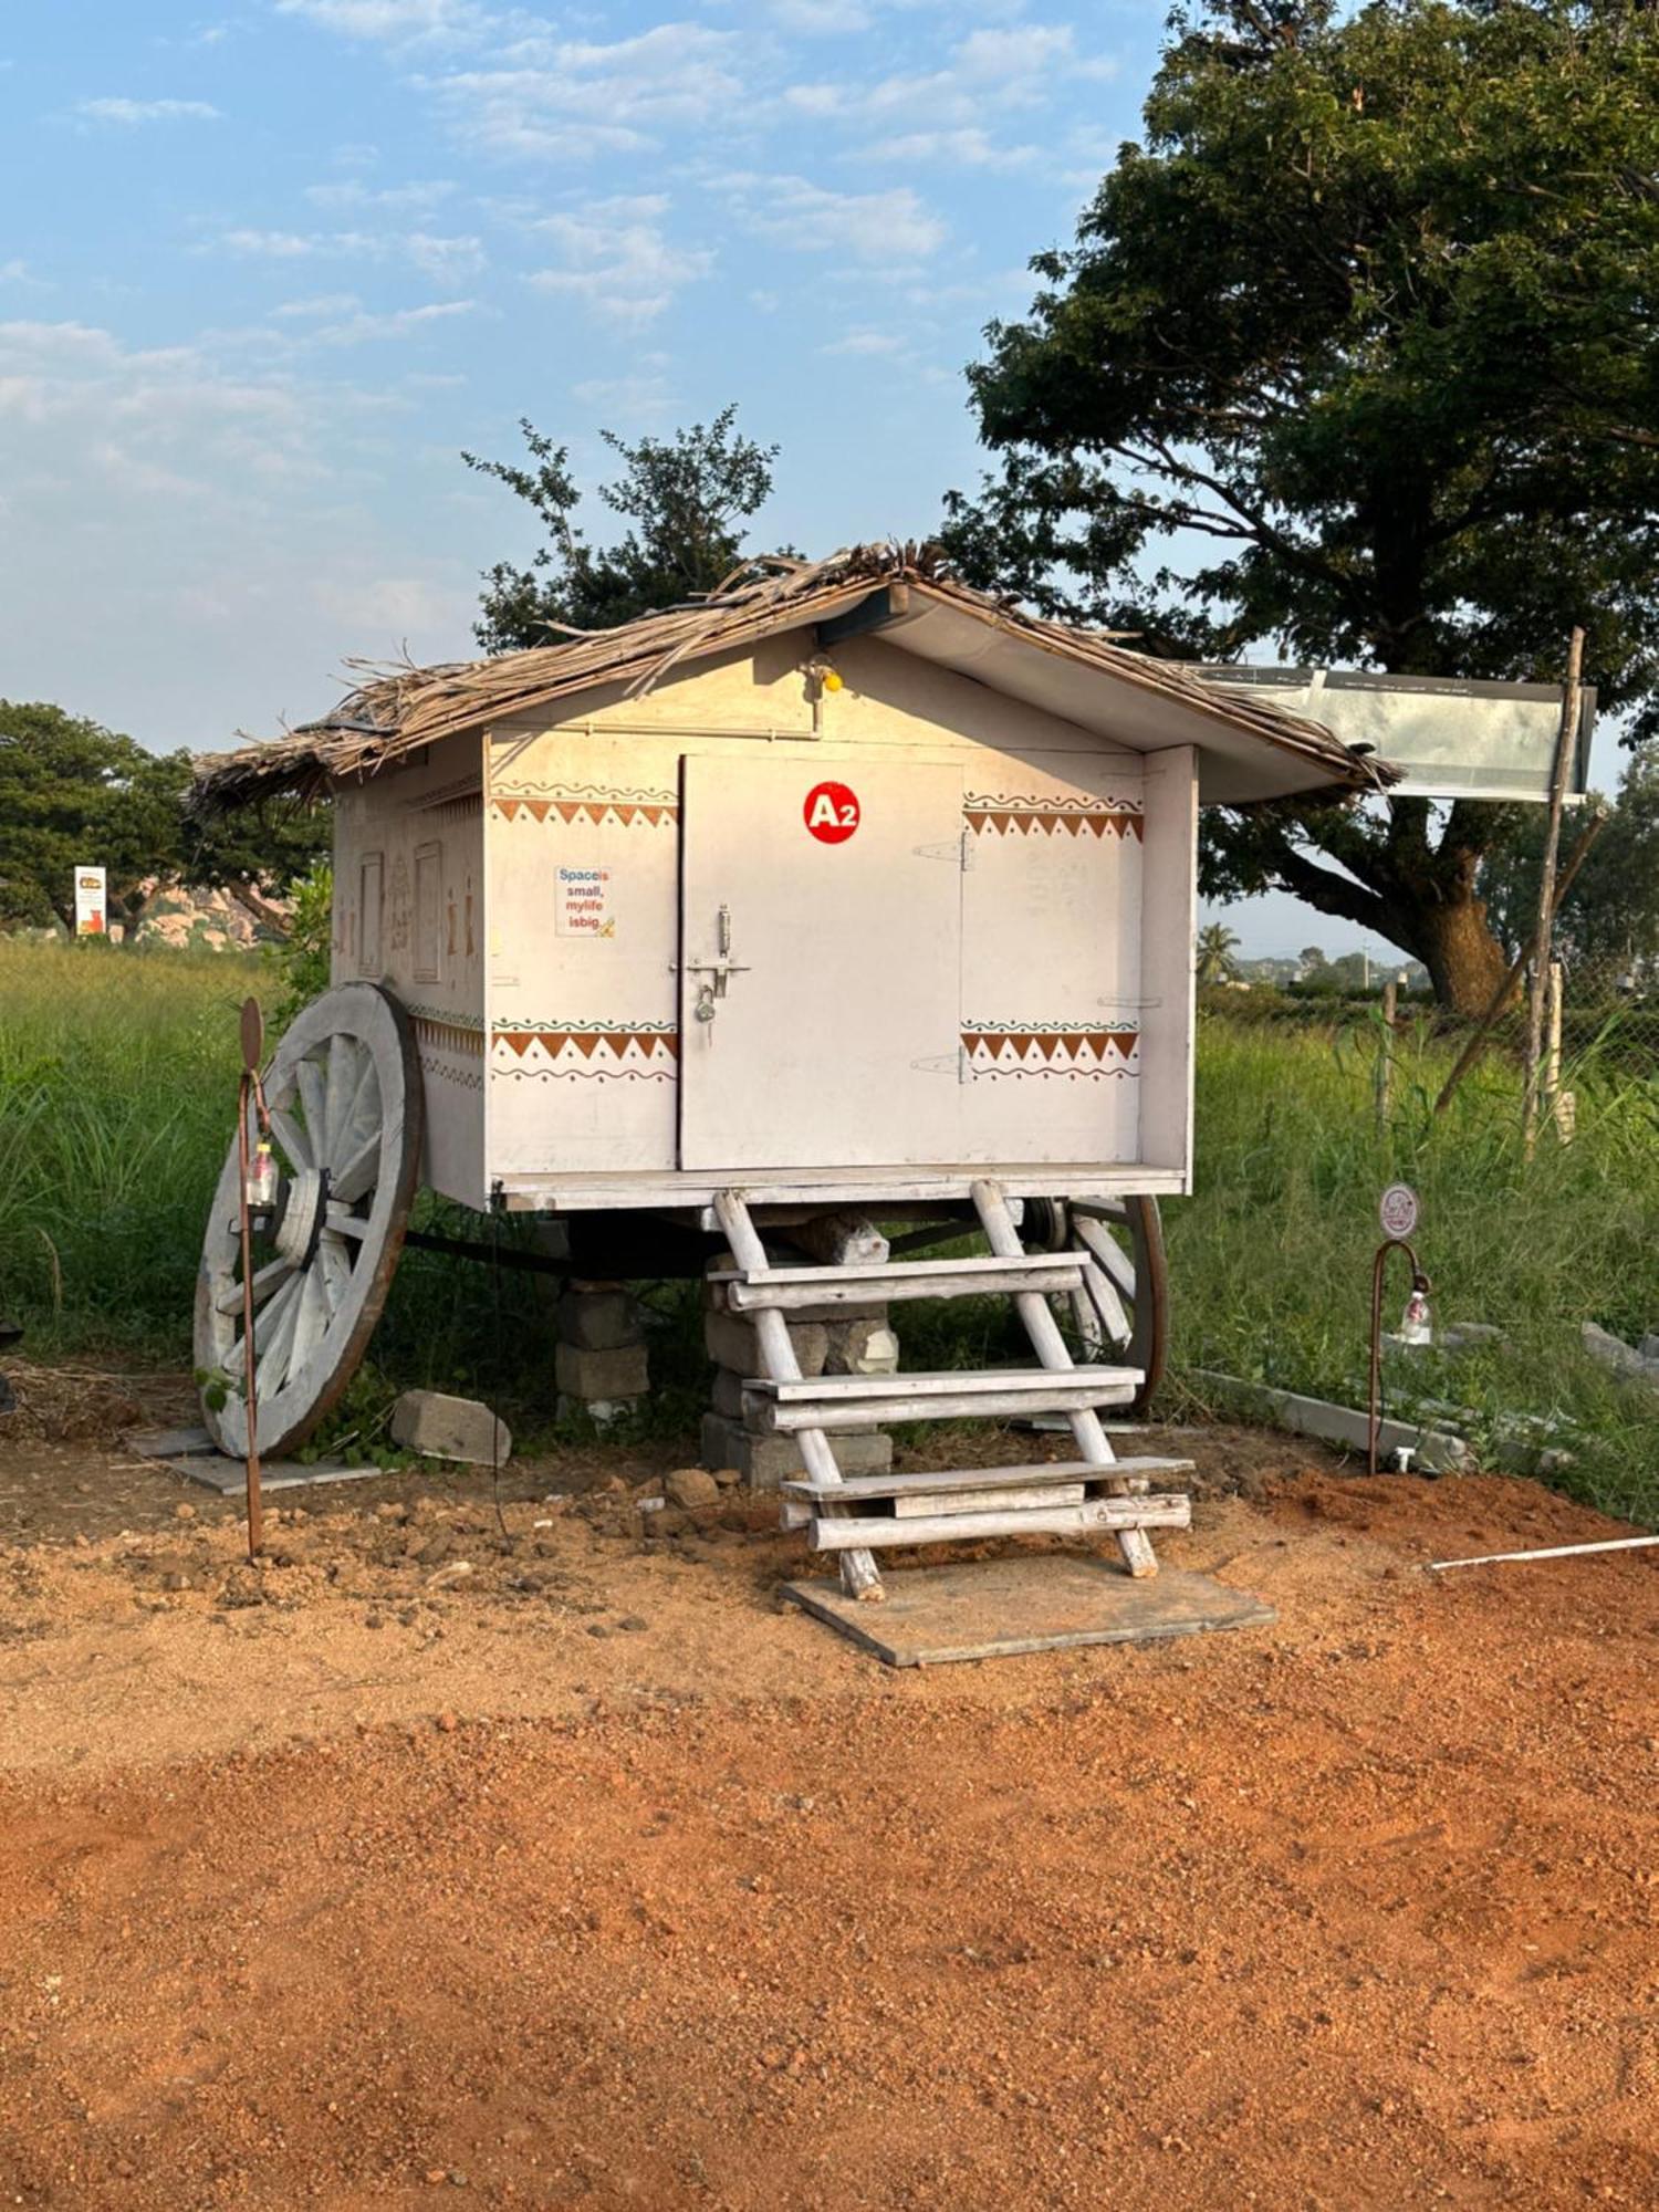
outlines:
[{"label": "distant green trees at the left edge, beyond the grass field", "polygon": [[0,699],[0,929],[75,925],[75,869],[108,872],[108,914],[128,940],[155,891],[228,889],[265,922],[268,894],[327,852],[327,821],[292,807],[195,821],[188,752],[148,752],[119,730],[44,701]]}]

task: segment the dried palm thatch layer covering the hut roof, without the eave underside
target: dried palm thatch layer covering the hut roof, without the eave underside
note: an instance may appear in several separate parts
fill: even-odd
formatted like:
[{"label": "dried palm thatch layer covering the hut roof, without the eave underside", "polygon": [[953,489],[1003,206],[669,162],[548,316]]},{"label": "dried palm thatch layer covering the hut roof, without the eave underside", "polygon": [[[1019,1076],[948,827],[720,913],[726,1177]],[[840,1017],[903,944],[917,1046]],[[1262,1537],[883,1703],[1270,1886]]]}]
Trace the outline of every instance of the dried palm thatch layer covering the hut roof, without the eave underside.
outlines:
[{"label": "dried palm thatch layer covering the hut roof, without the eave underside", "polygon": [[1046,622],[956,582],[933,546],[869,544],[821,562],[768,553],[745,562],[706,599],[641,615],[615,630],[573,630],[560,644],[500,659],[438,668],[349,661],[361,681],[332,714],[281,739],[199,761],[197,807],[219,812],[274,792],[312,799],[336,779],[372,774],[418,745],[553,706],[597,686],[622,686],[628,697],[639,697],[688,661],[754,646],[776,630],[827,622],[858,606],[872,591],[894,584],[911,586],[922,602],[958,608],[1046,653],[1164,692],[1203,717],[1298,752],[1323,768],[1332,785],[1358,790],[1387,781],[1387,770],[1363,763],[1301,714],[1243,692],[1217,690],[1179,661],[1157,661],[1115,644],[1108,633]]}]

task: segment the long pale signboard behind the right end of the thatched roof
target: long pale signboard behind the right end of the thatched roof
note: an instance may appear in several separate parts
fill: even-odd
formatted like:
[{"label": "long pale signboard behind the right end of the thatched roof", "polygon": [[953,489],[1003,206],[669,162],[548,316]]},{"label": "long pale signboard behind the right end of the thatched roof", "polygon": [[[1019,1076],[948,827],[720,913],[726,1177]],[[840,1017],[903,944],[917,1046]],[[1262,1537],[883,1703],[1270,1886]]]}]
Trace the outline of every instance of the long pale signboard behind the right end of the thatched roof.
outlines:
[{"label": "long pale signboard behind the right end of the thatched roof", "polygon": [[[1562,734],[1555,684],[1475,684],[1460,677],[1380,677],[1352,668],[1203,666],[1228,690],[1267,692],[1274,706],[1323,723],[1405,770],[1400,799],[1548,799]],[[1584,796],[1595,692],[1579,692],[1577,752],[1566,796]]]}]

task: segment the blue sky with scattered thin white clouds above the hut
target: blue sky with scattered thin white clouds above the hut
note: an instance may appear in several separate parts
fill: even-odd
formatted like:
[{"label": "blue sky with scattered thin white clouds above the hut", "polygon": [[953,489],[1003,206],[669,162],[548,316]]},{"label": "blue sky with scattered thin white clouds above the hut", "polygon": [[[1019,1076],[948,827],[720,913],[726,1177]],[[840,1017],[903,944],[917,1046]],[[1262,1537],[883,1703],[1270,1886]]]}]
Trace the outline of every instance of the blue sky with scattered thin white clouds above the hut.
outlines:
[{"label": "blue sky with scattered thin white clouds above the hut", "polygon": [[[1133,137],[1164,7],[53,0],[0,18],[0,697],[217,750],[473,650],[460,449],[706,420],[759,542],[925,535],[962,365]],[[604,526],[604,524],[602,524]],[[1250,951],[1356,933],[1230,909]]]}]

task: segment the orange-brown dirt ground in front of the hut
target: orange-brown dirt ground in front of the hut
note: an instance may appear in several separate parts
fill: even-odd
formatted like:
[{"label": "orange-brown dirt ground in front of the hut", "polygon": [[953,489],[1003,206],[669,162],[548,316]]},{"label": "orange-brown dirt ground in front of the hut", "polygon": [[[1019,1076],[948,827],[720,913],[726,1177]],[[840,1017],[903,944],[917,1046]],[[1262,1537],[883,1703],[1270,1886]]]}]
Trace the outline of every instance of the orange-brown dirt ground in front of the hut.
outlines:
[{"label": "orange-brown dirt ground in front of the hut", "polygon": [[1161,1557],[1274,1626],[891,1672],[668,1460],[307,1493],[250,1568],[33,1402],[7,2203],[1659,2201],[1659,1553],[1420,1573],[1617,1533],[1535,1484],[1181,1440]]}]

